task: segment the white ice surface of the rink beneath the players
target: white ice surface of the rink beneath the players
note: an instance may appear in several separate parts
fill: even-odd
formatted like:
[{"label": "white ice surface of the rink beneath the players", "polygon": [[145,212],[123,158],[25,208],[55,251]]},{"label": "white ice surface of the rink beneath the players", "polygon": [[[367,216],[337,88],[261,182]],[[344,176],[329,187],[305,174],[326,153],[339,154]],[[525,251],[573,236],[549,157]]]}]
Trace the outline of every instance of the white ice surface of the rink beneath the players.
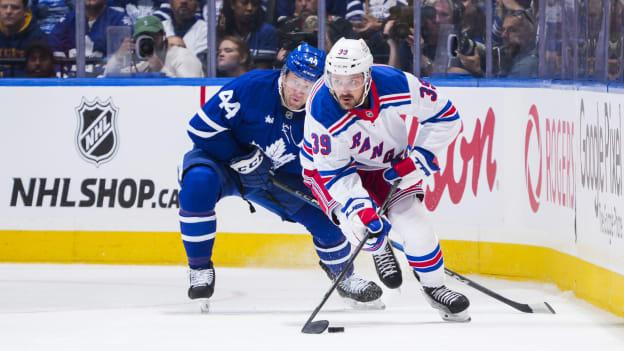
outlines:
[{"label": "white ice surface of the rink beneath the players", "polygon": [[334,293],[316,320],[345,332],[307,335],[300,329],[330,286],[320,269],[217,267],[202,314],[182,266],[0,264],[0,350],[624,350],[624,319],[552,284],[468,275],[557,311],[526,314],[448,278],[469,297],[472,321],[446,323],[403,275],[400,291],[385,290],[385,310],[356,311]]}]

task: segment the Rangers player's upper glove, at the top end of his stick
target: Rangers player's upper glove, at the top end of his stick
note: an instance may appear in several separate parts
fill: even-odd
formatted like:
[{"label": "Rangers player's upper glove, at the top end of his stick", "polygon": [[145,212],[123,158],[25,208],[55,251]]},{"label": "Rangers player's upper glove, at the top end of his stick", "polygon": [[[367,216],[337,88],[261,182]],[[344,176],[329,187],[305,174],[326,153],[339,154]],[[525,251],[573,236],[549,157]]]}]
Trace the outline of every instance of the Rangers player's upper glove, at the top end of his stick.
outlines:
[{"label": "Rangers player's upper glove, at the top end of his stick", "polygon": [[428,150],[416,147],[407,158],[394,163],[392,168],[385,170],[384,179],[392,184],[400,178],[399,187],[407,189],[439,170],[440,167],[435,162],[435,156]]}]

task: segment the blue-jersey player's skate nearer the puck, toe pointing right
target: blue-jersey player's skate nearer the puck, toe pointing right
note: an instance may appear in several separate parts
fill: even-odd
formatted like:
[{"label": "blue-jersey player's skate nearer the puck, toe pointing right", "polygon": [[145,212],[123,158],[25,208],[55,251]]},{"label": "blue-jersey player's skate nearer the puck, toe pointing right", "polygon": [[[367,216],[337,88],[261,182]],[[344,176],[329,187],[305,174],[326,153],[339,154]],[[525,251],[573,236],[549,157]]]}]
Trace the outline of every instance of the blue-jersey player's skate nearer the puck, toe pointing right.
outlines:
[{"label": "blue-jersey player's skate nearer the puck, toe pointing right", "polygon": [[[329,279],[335,281],[336,276],[329,268],[323,264],[323,262],[319,261],[319,264],[325,273],[327,273]],[[354,308],[383,309],[386,307],[380,299],[383,291],[379,285],[372,281],[364,280],[356,274],[351,274],[348,277],[342,278],[336,286],[336,290],[338,290],[338,294]]]}]

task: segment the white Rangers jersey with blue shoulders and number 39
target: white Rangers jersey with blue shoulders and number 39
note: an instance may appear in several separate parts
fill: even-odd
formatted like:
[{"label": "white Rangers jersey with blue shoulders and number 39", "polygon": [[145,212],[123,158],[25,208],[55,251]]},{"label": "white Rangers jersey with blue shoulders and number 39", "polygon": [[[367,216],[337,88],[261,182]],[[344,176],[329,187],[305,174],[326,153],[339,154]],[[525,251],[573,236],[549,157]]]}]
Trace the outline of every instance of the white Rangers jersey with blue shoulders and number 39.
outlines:
[{"label": "white Rangers jersey with blue shoulders and number 39", "polygon": [[324,79],[306,104],[304,182],[328,215],[350,198],[368,197],[358,170],[389,168],[415,146],[435,157],[461,129],[455,106],[431,84],[390,66],[374,65],[371,76],[370,108],[343,110]]}]

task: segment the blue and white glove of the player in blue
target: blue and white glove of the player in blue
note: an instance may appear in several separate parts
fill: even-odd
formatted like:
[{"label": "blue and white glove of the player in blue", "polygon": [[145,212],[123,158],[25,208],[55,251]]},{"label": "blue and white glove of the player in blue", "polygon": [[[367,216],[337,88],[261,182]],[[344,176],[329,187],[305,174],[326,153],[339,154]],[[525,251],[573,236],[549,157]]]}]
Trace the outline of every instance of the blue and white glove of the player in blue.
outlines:
[{"label": "blue and white glove of the player in blue", "polygon": [[230,167],[238,172],[244,187],[263,189],[269,187],[269,172],[273,167],[273,162],[270,158],[265,157],[260,149],[232,159]]}]

